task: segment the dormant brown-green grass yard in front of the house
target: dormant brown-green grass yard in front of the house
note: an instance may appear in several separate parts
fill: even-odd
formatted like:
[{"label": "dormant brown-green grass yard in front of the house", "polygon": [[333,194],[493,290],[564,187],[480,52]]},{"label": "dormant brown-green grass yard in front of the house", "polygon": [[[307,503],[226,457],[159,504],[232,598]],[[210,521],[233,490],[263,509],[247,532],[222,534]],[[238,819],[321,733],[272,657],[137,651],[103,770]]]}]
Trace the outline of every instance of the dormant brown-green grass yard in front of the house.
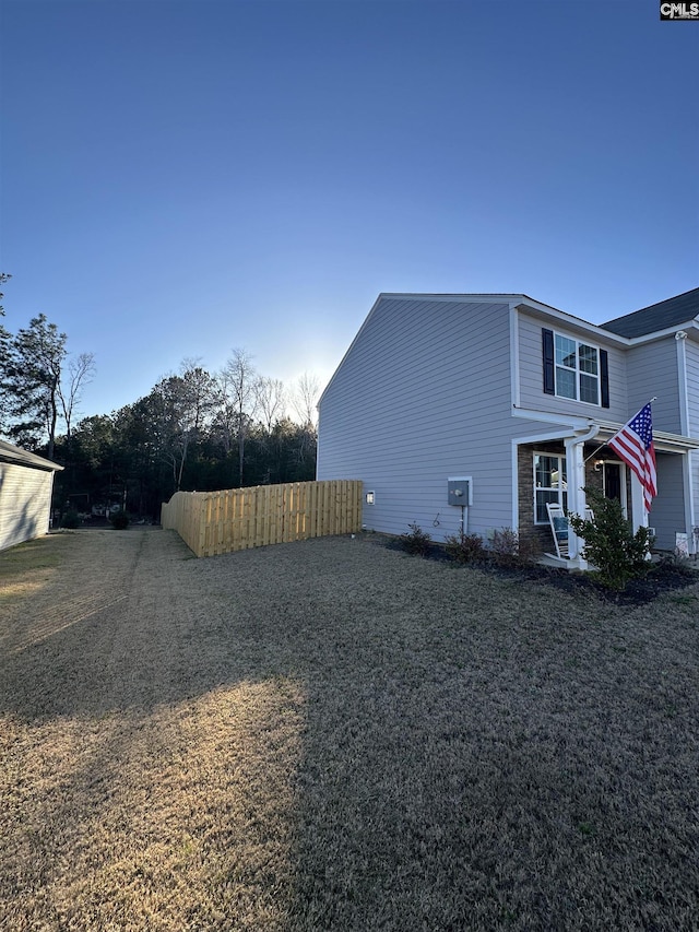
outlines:
[{"label": "dormant brown-green grass yard in front of the house", "polygon": [[0,554],[0,928],[699,929],[699,585],[190,556]]}]

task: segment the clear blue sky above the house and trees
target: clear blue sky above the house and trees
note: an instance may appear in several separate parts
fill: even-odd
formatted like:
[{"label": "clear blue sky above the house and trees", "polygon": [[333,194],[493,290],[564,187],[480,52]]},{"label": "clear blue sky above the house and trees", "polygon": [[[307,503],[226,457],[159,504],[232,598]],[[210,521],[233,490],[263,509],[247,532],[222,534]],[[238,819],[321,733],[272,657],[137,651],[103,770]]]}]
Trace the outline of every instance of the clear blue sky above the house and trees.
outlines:
[{"label": "clear blue sky above the house and trees", "polygon": [[1,0],[5,326],[84,414],[233,347],[324,384],[380,292],[602,322],[699,279],[699,24],[654,0]]}]

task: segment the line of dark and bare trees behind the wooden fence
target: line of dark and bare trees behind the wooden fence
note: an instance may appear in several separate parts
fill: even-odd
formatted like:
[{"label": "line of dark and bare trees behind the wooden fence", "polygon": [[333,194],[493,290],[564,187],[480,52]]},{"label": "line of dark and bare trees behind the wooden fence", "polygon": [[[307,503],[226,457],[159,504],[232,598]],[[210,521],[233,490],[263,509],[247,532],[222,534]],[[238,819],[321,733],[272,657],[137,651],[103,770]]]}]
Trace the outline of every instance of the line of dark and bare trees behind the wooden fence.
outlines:
[{"label": "line of dark and bare trees behind the wooden fence", "polygon": [[0,434],[64,467],[55,483],[60,512],[119,506],[157,520],[179,489],[315,479],[312,376],[287,389],[234,350],[220,371],[183,359],[132,404],[79,420],[94,374],[93,354],[70,355],[45,315],[15,334],[0,325]]}]

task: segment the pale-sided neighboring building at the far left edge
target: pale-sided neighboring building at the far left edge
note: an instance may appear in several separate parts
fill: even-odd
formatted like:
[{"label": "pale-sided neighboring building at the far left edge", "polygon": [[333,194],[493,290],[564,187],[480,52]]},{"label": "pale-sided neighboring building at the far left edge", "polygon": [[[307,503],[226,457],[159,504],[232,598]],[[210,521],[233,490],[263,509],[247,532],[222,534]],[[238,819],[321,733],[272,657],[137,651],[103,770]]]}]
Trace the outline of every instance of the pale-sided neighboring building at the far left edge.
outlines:
[{"label": "pale-sided neighboring building at the far left edge", "polygon": [[63,467],[0,440],[0,551],[45,534]]}]

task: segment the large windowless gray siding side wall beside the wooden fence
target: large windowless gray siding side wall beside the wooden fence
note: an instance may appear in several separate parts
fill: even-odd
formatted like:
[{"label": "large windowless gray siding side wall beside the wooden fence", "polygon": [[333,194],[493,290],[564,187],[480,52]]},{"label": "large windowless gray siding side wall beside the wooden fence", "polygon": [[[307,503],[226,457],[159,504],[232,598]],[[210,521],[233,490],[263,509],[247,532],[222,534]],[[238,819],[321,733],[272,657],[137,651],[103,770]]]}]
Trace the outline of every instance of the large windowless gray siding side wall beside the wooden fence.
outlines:
[{"label": "large windowless gray siding side wall beside the wooden fence", "polygon": [[369,529],[459,530],[447,479],[471,475],[470,530],[512,523],[509,307],[381,298],[323,393],[318,479],[360,479]]}]

